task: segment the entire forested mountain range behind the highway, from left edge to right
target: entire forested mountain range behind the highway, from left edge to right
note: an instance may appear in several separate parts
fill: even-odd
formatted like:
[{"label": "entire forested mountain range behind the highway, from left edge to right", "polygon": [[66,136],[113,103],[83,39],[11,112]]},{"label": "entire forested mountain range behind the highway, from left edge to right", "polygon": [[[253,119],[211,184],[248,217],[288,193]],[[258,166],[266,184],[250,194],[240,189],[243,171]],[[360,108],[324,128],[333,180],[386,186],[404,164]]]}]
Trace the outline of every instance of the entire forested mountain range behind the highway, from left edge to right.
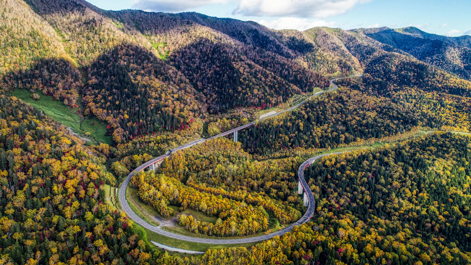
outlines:
[{"label": "entire forested mountain range behind the highway, from left edge to right", "polygon": [[[23,36],[29,43],[41,43],[40,37],[48,43],[20,50],[40,51],[34,58],[15,59],[16,53],[4,50],[9,55],[4,56],[2,87],[39,89],[68,106],[80,102],[80,113],[106,121],[116,143],[156,132],[196,136],[211,115],[278,106],[295,94],[328,86],[324,75],[336,72],[365,72],[424,90],[434,83],[433,89],[454,95],[463,95],[461,89],[469,86],[432,67],[449,64],[446,56],[417,60],[409,55],[412,48],[377,41],[374,34],[385,30],[277,31],[198,13],[105,11],[82,0],[28,3],[5,2],[12,8],[2,12],[11,22],[18,20],[16,10],[34,18],[29,25],[5,21],[17,32],[9,45],[25,42]],[[461,61],[467,69],[465,58]]]}]

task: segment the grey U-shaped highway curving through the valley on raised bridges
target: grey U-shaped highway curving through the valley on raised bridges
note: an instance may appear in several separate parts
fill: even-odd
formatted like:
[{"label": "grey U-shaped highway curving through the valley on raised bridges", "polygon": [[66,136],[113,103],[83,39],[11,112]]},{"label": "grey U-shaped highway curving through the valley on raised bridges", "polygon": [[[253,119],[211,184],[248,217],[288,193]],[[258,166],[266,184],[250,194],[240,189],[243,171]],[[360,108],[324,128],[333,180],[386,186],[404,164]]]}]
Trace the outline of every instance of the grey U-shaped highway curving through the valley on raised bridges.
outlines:
[{"label": "grey U-shaped highway curving through the valley on raised bridges", "polygon": [[[361,75],[356,75],[356,76],[361,76]],[[341,78],[338,78],[338,79],[341,79]],[[335,89],[337,89],[337,85],[334,83],[334,81],[338,80],[338,79],[332,79],[330,80],[330,83],[331,83],[331,89],[330,90],[327,90],[327,91],[333,91]],[[312,95],[311,97],[305,99],[303,102],[299,103],[298,105],[296,106],[293,106],[293,107],[290,107],[286,110],[283,110],[283,111],[280,111],[280,112],[277,112],[273,115],[270,115],[270,116],[267,116],[263,119],[258,119],[258,121],[261,121],[261,120],[264,120],[264,119],[267,119],[267,118],[271,118],[271,117],[274,117],[274,116],[277,116],[277,115],[280,115],[282,113],[285,113],[287,111],[290,111],[290,110],[293,110],[301,105],[303,105],[306,101],[308,101],[309,99],[311,99],[312,97],[315,97],[315,96],[318,96],[318,95],[321,95],[323,93],[325,93],[326,91],[320,91],[320,92],[317,92],[315,93],[314,95]],[[245,128],[248,128],[250,126],[253,126],[255,125],[256,122],[251,122],[251,123],[248,123],[248,124],[245,124],[245,125],[242,125],[240,127],[237,127],[235,129],[232,129],[232,130],[229,130],[227,132],[223,132],[223,133],[220,133],[218,135],[215,135],[215,136],[212,136],[209,139],[214,139],[214,138],[217,138],[217,137],[221,137],[221,136],[225,136],[225,135],[228,135],[228,134],[231,134],[233,132],[236,132],[236,131],[239,131],[241,129],[245,129]],[[119,199],[119,203],[121,204],[121,208],[123,209],[124,212],[126,212],[126,214],[136,223],[138,223],[139,225],[141,225],[142,227],[146,228],[146,229],[149,229],[153,232],[156,232],[157,234],[160,234],[160,235],[163,235],[163,236],[166,236],[166,237],[169,237],[169,238],[177,238],[177,239],[181,239],[181,240],[186,240],[186,241],[191,241],[191,242],[197,242],[197,243],[208,243],[208,244],[237,244],[237,243],[249,243],[249,242],[257,242],[257,241],[262,241],[262,240],[266,240],[266,239],[270,239],[270,238],[273,238],[275,236],[282,236],[286,233],[288,233],[295,225],[301,225],[303,223],[306,223],[308,222],[310,219],[311,219],[311,216],[313,215],[314,213],[314,205],[315,205],[315,201],[314,201],[314,194],[312,193],[309,185],[307,184],[306,180],[304,179],[304,169],[306,167],[308,167],[309,165],[311,165],[316,159],[319,159],[321,157],[324,157],[324,156],[328,156],[328,155],[331,155],[331,154],[340,154],[341,152],[338,152],[338,153],[330,153],[330,154],[324,154],[324,155],[319,155],[319,156],[315,156],[314,158],[311,158],[311,159],[308,159],[306,161],[304,161],[304,163],[301,164],[301,166],[299,167],[298,169],[298,176],[299,176],[299,181],[301,182],[301,185],[303,187],[303,190],[304,192],[306,193],[307,197],[308,197],[308,201],[309,201],[309,206],[308,206],[308,210],[306,211],[306,213],[298,220],[296,221],[295,223],[281,229],[281,230],[278,230],[276,232],[273,232],[271,234],[266,234],[266,235],[262,235],[262,236],[258,236],[258,237],[252,237],[252,238],[237,238],[237,239],[212,239],[212,238],[196,238],[196,237],[188,237],[188,236],[183,236],[183,235],[180,235],[180,234],[176,234],[176,233],[172,233],[172,232],[169,232],[169,231],[166,231],[166,230],[163,230],[161,229],[160,227],[157,227],[157,226],[153,226],[149,223],[147,223],[146,221],[144,221],[142,218],[140,218],[135,212],[133,212],[131,210],[131,207],[129,206],[128,204],[128,201],[126,200],[126,188],[128,187],[129,185],[129,182],[131,181],[131,177],[136,173],[136,172],[140,172],[142,170],[144,170],[145,168],[149,167],[151,164],[154,164],[155,162],[159,161],[159,160],[162,160],[162,159],[165,159],[167,157],[170,157],[170,155],[174,152],[177,152],[179,150],[183,150],[183,149],[186,149],[188,147],[191,147],[193,145],[196,145],[196,144],[199,144],[199,143],[202,143],[204,141],[206,141],[207,139],[204,139],[204,138],[201,138],[201,139],[198,139],[198,140],[195,140],[195,141],[192,141],[192,142],[189,142],[189,143],[186,143],[182,146],[179,146],[177,148],[174,148],[174,149],[171,149],[169,150],[165,155],[162,155],[160,157],[157,157],[155,159],[152,159],[152,160],[149,160],[143,164],[141,164],[140,166],[136,167],[133,171],[131,171],[131,173],[129,173],[129,175],[126,177],[126,179],[123,181],[123,183],[120,185],[120,189],[119,189],[119,192],[118,192],[118,199]]]}]

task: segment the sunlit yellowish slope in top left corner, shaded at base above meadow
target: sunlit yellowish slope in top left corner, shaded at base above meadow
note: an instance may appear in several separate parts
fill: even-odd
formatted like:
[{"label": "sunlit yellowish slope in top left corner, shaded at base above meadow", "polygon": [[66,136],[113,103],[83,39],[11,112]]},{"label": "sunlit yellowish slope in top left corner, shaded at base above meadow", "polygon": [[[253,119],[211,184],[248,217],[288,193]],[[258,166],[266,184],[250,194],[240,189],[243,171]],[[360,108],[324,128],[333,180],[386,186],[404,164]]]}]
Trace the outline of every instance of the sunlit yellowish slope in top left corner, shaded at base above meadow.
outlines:
[{"label": "sunlit yellowish slope in top left corner, shaded at base above meadow", "polygon": [[0,3],[0,87],[37,89],[77,104],[79,72],[54,28],[24,1]]}]

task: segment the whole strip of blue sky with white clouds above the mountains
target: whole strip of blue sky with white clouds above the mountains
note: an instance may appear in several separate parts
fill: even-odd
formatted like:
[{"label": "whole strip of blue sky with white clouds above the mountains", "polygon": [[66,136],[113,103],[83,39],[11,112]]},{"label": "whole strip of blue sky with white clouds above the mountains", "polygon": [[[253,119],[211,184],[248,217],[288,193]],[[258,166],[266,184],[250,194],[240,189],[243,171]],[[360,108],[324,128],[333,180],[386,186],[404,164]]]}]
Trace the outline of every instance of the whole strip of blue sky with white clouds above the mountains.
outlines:
[{"label": "whole strip of blue sky with white clouds above the mountains", "polygon": [[327,26],[418,27],[447,36],[471,35],[469,0],[88,0],[106,9],[195,11],[253,20],[275,29]]}]

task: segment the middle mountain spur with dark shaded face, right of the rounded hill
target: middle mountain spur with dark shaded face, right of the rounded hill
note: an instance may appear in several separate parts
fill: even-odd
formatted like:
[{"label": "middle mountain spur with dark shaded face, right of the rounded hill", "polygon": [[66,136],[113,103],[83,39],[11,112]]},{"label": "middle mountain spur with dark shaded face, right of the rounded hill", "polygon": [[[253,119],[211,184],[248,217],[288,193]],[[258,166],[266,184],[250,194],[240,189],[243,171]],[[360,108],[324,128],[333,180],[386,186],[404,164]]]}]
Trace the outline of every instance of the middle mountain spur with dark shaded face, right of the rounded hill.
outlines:
[{"label": "middle mountain spur with dark shaded face, right of the rounded hill", "polygon": [[207,97],[210,113],[276,106],[294,94],[328,86],[325,77],[291,59],[293,52],[262,26],[196,13],[126,10],[113,15],[142,31],[160,54],[169,54],[169,63]]}]

